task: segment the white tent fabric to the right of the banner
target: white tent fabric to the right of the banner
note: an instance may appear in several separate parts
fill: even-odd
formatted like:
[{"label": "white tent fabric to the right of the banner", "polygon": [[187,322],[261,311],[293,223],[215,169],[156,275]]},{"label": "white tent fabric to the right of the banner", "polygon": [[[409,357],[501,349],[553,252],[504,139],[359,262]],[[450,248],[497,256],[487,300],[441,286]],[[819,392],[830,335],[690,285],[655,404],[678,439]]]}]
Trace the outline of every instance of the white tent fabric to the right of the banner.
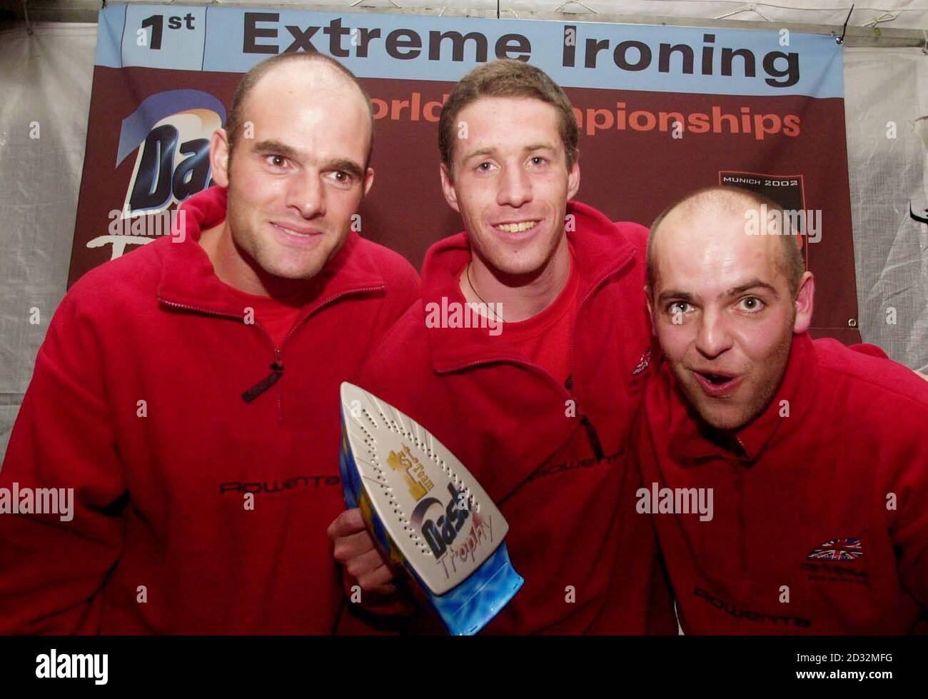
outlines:
[{"label": "white tent fabric to the right of the banner", "polygon": [[[928,368],[928,56],[851,48],[844,110],[861,337]],[[921,120],[921,121],[920,121]],[[895,138],[893,136],[895,130]],[[828,279],[818,279],[827,284]]]}]

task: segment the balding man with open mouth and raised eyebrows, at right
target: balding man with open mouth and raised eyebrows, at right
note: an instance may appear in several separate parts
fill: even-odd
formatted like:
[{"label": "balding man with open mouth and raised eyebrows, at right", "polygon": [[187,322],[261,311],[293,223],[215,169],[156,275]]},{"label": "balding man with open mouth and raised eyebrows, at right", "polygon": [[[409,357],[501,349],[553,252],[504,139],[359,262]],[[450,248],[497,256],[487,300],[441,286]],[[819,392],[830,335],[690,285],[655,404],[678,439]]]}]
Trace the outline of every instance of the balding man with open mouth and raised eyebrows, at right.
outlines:
[{"label": "balding man with open mouth and raised eyebrows, at right", "polygon": [[663,361],[635,431],[638,512],[687,633],[922,630],[928,385],[809,337],[815,283],[783,214],[708,188],[651,227]]}]

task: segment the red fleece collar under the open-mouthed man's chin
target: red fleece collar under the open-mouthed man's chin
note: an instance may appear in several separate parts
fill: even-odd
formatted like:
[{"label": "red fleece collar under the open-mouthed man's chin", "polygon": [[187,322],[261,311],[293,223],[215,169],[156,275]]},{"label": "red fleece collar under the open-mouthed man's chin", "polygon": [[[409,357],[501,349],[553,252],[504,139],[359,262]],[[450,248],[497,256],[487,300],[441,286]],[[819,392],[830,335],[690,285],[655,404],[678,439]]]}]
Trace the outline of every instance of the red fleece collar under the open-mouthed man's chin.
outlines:
[{"label": "red fleece collar under the open-mouthed man's chin", "polygon": [[689,408],[665,363],[660,371],[671,386],[668,411],[671,457],[692,462],[728,456],[750,466],[773,440],[788,437],[804,424],[815,397],[817,362],[815,345],[808,333],[794,336],[786,371],[767,408],[741,430],[725,434],[707,426]]}]

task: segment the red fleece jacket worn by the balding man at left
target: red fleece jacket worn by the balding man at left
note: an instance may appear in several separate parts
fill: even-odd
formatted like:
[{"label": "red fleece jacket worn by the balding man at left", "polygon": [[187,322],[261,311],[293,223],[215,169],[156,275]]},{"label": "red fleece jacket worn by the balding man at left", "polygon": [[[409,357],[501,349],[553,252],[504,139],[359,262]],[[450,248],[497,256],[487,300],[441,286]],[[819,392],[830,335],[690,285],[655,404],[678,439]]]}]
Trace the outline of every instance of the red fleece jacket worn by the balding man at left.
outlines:
[{"label": "red fleece jacket worn by the balding man at left", "polygon": [[339,385],[419,277],[352,233],[275,347],[196,241],[225,218],[226,190],[183,208],[184,242],[97,267],[52,319],[0,487],[72,487],[73,519],[0,514],[2,633],[335,626]]}]

